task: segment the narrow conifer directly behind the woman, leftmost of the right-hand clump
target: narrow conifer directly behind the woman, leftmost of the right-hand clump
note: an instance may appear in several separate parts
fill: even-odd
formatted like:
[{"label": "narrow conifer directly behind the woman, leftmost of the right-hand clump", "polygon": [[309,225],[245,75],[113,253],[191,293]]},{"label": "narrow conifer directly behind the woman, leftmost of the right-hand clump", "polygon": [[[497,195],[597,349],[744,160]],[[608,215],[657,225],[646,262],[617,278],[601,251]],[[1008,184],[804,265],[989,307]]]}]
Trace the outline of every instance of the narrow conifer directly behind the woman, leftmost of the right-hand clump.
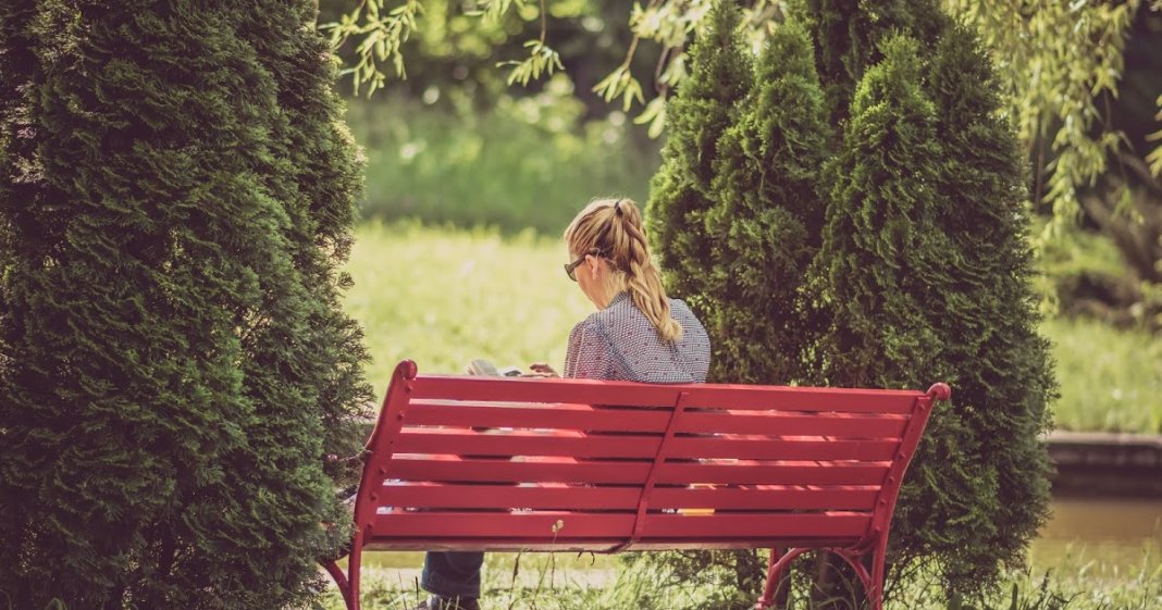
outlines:
[{"label": "narrow conifer directly behind the woman, leftmost of the right-hand clump", "polygon": [[705,30],[690,48],[690,74],[668,103],[662,165],[650,185],[647,229],[668,292],[706,313],[704,275],[710,259],[705,215],[715,204],[718,141],[733,124],[736,106],[751,87],[751,60],[736,35],[740,13],[716,2]]}]

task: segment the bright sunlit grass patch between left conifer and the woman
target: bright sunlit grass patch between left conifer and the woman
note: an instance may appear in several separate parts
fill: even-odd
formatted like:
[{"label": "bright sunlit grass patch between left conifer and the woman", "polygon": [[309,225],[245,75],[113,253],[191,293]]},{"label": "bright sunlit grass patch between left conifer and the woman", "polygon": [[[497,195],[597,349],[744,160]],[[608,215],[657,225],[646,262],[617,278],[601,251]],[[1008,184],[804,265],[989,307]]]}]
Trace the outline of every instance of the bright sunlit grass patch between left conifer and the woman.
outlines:
[{"label": "bright sunlit grass patch between left conifer and the woman", "polygon": [[531,232],[360,227],[346,308],[365,328],[376,394],[406,358],[426,373],[462,373],[474,358],[559,369],[569,331],[594,310],[565,263],[560,239]]}]

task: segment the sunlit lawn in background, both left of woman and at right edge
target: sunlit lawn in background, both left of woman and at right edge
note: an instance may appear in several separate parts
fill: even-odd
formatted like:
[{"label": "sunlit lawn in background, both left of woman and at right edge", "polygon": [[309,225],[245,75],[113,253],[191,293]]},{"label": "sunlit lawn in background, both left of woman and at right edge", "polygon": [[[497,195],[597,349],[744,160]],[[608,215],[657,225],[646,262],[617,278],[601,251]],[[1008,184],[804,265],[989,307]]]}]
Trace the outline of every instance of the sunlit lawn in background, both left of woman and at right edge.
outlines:
[{"label": "sunlit lawn in background, both left of woman and at right edge", "polygon": [[[366,329],[376,394],[403,358],[439,373],[473,358],[560,366],[569,330],[593,311],[561,271],[567,258],[560,239],[532,232],[360,227],[346,303]],[[1162,340],[1084,321],[1043,330],[1061,382],[1057,428],[1162,432]]]}]

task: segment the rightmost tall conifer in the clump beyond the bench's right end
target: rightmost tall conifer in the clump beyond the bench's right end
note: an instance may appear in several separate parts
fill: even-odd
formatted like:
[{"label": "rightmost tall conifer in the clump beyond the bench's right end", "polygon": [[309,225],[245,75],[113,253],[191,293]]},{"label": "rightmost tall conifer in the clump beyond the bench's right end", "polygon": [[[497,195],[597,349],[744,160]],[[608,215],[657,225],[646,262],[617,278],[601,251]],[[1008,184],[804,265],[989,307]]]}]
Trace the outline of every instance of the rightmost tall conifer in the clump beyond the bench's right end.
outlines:
[{"label": "rightmost tall conifer in the clump beyond the bench's right end", "polygon": [[[956,388],[954,416],[970,439],[945,440],[964,454],[974,473],[973,495],[955,502],[970,498],[969,505],[984,514],[945,550],[955,557],[946,570],[949,581],[978,583],[996,575],[997,560],[1019,565],[1046,517],[1050,467],[1041,438],[1056,382],[1048,343],[1037,330],[1030,284],[1034,270],[1023,156],[997,112],[1002,101],[989,60],[968,30],[951,27],[927,72],[941,143],[937,228],[949,242],[939,259],[942,268],[928,281],[927,315]],[[920,458],[925,476],[944,468],[934,448]],[[923,507],[949,501],[937,497],[947,493],[939,486],[923,489],[899,515],[903,522],[919,517],[910,523],[917,533],[942,523]]]}]

